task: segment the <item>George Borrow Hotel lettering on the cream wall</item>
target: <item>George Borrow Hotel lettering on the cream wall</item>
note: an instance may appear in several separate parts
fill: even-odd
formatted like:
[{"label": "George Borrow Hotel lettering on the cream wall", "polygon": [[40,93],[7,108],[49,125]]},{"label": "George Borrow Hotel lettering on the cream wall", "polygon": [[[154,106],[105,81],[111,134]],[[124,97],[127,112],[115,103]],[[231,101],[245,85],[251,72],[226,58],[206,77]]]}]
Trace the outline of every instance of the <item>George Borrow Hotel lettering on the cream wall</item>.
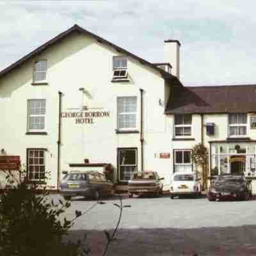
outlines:
[{"label": "George Borrow Hotel lettering on the cream wall", "polygon": [[[97,109],[97,111],[92,111]],[[100,111],[99,111],[100,109]],[[61,118],[74,118],[76,124],[94,124],[95,118],[109,117],[109,111],[102,111],[102,108],[88,108],[83,106],[80,111],[62,112]]]}]

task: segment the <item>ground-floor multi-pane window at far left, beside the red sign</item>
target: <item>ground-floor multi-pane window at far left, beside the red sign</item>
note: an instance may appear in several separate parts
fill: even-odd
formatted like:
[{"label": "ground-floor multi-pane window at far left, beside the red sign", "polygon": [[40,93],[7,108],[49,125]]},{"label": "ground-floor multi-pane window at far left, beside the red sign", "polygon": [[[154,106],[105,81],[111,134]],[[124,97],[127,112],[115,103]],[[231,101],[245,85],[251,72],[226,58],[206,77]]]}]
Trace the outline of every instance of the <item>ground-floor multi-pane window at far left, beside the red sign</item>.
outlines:
[{"label": "ground-floor multi-pane window at far left, beside the red sign", "polygon": [[40,148],[28,148],[27,173],[29,180],[45,179],[45,150]]}]

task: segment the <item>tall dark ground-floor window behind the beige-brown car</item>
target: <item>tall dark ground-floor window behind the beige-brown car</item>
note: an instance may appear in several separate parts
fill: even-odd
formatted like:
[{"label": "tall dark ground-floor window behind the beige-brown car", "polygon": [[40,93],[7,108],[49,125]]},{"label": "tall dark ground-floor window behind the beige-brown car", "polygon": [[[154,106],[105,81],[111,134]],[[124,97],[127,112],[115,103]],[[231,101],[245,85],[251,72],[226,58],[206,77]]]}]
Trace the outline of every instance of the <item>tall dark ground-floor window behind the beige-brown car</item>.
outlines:
[{"label": "tall dark ground-floor window behind the beige-brown car", "polygon": [[118,173],[120,181],[127,181],[136,172],[137,148],[118,148]]}]

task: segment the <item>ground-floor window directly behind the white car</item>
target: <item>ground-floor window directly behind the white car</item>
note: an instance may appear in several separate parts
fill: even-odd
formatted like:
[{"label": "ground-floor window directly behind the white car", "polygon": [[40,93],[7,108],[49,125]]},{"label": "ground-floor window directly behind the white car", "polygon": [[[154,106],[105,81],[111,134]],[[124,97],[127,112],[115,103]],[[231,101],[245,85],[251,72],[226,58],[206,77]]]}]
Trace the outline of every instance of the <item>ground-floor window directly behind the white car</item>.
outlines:
[{"label": "ground-floor window directly behind the white car", "polygon": [[191,150],[174,150],[174,172],[192,172]]}]

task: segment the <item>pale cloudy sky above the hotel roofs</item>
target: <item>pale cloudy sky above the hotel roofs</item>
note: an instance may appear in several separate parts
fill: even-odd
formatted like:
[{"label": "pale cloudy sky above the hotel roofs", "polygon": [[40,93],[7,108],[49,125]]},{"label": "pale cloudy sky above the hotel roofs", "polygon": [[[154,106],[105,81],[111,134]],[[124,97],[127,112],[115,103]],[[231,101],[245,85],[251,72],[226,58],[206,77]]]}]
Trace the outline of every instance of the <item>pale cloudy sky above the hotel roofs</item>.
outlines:
[{"label": "pale cloudy sky above the hotel roofs", "polygon": [[[244,4],[246,3],[246,4]],[[256,1],[1,1],[0,70],[74,24],[154,62],[179,40],[185,86],[256,83]]]}]

